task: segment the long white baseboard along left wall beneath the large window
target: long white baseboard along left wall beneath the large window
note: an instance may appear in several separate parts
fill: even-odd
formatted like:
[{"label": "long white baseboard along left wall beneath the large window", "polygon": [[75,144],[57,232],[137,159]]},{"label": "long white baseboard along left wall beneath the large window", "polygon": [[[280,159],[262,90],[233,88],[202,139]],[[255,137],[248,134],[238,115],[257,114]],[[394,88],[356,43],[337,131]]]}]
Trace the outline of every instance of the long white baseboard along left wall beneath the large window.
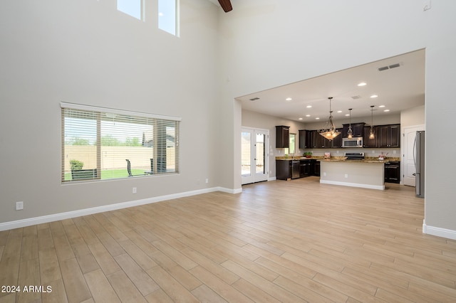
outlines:
[{"label": "long white baseboard along left wall beneath the large window", "polygon": [[167,201],[167,200],[183,198],[183,197],[187,197],[187,196],[195,196],[195,195],[199,195],[201,193],[212,193],[214,191],[223,191],[225,193],[241,193],[242,188],[235,188],[235,189],[224,188],[224,187],[204,188],[204,189],[199,189],[197,191],[172,193],[170,195],[165,195],[165,196],[145,198],[145,199],[141,199],[141,200],[128,201],[128,202],[123,202],[123,203],[115,203],[115,204],[110,204],[110,205],[105,205],[105,206],[97,206],[97,207],[93,207],[93,208],[85,208],[85,209],[81,209],[78,211],[67,211],[65,213],[54,213],[52,215],[47,215],[47,216],[26,218],[26,219],[22,219],[22,220],[15,220],[15,221],[10,221],[10,222],[0,223],[0,231],[1,230],[10,230],[10,229],[14,229],[14,228],[23,228],[23,227],[30,226],[30,225],[48,223],[48,222],[53,222],[53,221],[58,221],[58,220],[65,220],[65,219],[69,219],[69,218],[88,216],[88,215],[92,215],[93,213],[103,213],[105,211],[115,211],[117,209],[128,208],[128,207],[132,207],[132,206],[140,206],[140,205],[145,205],[145,204],[155,203],[155,202],[160,202],[160,201]]}]

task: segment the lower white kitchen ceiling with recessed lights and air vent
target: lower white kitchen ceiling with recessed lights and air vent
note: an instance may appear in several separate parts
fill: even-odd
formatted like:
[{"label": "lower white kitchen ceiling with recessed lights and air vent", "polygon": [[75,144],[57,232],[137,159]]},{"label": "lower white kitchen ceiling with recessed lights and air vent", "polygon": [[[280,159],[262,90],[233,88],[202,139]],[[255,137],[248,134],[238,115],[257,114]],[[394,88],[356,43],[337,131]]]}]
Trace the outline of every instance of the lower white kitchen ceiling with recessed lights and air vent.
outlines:
[{"label": "lower white kitchen ceiling with recessed lights and air vent", "polygon": [[[358,86],[362,82],[366,85]],[[371,98],[372,95],[378,97]],[[375,115],[398,114],[424,105],[425,50],[255,92],[237,100],[242,102],[243,110],[311,123],[328,119],[328,97],[333,97],[334,120],[346,119],[349,108],[353,109],[353,118],[370,116],[371,105],[375,105]]]}]

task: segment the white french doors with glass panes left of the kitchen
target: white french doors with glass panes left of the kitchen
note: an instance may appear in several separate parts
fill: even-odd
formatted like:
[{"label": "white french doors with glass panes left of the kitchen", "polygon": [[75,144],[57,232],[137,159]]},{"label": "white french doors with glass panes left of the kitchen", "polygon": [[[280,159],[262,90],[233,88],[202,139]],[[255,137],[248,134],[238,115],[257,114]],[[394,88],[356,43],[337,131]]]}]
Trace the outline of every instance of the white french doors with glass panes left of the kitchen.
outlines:
[{"label": "white french doors with glass panes left of the kitchen", "polygon": [[269,130],[242,128],[242,184],[266,181],[269,176]]}]

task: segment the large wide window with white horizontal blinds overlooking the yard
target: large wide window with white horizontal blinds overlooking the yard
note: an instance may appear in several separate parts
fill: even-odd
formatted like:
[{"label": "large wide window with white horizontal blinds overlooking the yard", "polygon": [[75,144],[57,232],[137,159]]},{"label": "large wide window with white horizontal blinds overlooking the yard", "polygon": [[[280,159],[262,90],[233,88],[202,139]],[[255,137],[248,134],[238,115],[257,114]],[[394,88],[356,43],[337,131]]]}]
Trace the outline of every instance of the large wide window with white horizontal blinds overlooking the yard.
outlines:
[{"label": "large wide window with white horizontal blinds overlooking the yard", "polygon": [[180,118],[61,103],[62,182],[176,174]]}]

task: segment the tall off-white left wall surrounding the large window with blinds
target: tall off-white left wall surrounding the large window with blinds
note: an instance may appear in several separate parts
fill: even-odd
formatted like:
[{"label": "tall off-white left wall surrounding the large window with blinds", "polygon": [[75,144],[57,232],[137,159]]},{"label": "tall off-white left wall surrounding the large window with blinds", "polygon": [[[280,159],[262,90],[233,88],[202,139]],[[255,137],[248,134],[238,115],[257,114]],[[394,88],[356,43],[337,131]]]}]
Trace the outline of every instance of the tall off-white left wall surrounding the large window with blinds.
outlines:
[{"label": "tall off-white left wall surrounding the large window with blinds", "polygon": [[[219,184],[219,9],[180,4],[177,38],[157,29],[157,1],[144,22],[115,0],[1,1],[0,223]],[[62,101],[182,117],[180,174],[62,185]]]}]

